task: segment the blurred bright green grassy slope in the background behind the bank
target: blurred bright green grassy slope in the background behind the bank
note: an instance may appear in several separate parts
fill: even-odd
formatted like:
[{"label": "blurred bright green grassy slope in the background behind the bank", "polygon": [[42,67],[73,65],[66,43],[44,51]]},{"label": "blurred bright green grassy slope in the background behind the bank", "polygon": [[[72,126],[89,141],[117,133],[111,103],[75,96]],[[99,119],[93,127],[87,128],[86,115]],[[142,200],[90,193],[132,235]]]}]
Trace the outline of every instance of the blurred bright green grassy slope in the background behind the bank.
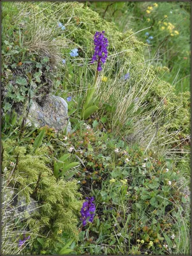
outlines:
[{"label": "blurred bright green grassy slope in the background behind the bank", "polygon": [[[148,38],[145,36],[146,32],[150,34],[149,36],[153,36],[153,39],[149,40],[149,50],[146,49],[145,52],[146,58],[155,58],[157,59],[155,63],[158,61],[159,65],[170,68],[170,73],[165,74],[163,79],[173,84],[177,92],[189,91],[191,4],[189,2],[159,2],[155,7],[154,2],[112,3],[91,2],[89,6],[101,15],[104,15],[108,6],[105,19],[114,22],[120,31],[132,29],[133,33],[136,33],[136,36],[144,42]],[[149,6],[152,6],[152,10],[147,13]],[[178,31],[179,35],[166,29],[168,26],[165,26],[164,22],[174,25],[173,31]],[[161,29],[162,26],[165,27],[164,30]]]}]

